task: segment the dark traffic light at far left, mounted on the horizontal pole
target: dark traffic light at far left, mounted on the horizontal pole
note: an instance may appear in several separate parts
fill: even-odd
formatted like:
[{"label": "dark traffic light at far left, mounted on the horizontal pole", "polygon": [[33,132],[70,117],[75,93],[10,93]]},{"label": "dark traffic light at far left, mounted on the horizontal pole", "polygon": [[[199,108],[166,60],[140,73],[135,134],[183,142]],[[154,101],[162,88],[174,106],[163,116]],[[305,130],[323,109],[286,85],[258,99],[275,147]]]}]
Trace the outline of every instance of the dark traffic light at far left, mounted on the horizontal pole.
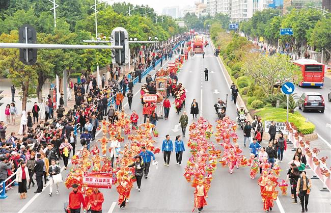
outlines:
[{"label": "dark traffic light at far left, mounted on the horizontal pole", "polygon": [[[33,26],[24,24],[19,28],[19,43],[37,43],[37,32]],[[34,65],[37,61],[37,49],[19,49],[19,60],[25,65]]]}]

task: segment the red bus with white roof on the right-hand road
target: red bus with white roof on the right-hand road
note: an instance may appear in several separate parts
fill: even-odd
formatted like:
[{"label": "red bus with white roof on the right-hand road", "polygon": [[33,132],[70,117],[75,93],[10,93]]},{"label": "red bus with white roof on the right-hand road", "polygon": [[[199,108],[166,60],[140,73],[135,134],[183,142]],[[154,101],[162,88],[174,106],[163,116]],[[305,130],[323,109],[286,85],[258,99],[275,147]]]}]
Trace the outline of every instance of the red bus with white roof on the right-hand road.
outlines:
[{"label": "red bus with white roof on the right-hand road", "polygon": [[312,59],[298,59],[293,61],[301,69],[302,79],[299,86],[323,87],[325,65]]}]

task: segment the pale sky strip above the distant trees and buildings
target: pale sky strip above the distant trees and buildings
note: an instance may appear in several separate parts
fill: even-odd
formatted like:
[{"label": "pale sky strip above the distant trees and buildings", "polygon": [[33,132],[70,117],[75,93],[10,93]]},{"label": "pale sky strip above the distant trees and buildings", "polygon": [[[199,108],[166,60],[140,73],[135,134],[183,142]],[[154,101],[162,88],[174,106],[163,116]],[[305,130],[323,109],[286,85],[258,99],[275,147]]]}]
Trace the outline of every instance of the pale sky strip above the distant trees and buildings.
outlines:
[{"label": "pale sky strip above the distant trees and buildings", "polygon": [[187,5],[193,7],[195,6],[195,2],[198,1],[199,0],[107,0],[107,2],[109,2],[110,4],[112,4],[112,2],[126,2],[132,5],[148,5],[149,7],[153,8],[158,14],[161,14],[164,7],[179,6],[180,8],[184,8]]}]

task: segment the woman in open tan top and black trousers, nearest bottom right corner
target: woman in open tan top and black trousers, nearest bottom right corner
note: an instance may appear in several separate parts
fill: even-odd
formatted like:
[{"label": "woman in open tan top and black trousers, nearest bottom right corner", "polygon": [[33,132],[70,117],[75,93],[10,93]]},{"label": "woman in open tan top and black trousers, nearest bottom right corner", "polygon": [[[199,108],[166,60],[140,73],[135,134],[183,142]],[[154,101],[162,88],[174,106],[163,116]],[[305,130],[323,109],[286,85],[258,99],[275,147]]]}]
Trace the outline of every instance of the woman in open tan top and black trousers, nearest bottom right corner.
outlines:
[{"label": "woman in open tan top and black trousers, nearest bottom right corner", "polygon": [[312,180],[307,177],[306,171],[302,171],[301,177],[298,179],[296,186],[296,195],[299,195],[301,201],[301,212],[305,212],[305,210],[308,211],[308,200],[311,187]]}]

